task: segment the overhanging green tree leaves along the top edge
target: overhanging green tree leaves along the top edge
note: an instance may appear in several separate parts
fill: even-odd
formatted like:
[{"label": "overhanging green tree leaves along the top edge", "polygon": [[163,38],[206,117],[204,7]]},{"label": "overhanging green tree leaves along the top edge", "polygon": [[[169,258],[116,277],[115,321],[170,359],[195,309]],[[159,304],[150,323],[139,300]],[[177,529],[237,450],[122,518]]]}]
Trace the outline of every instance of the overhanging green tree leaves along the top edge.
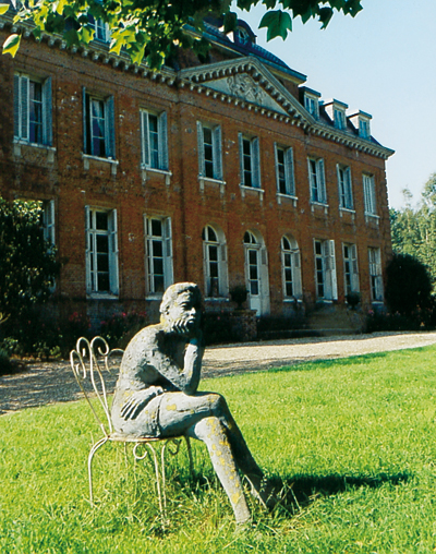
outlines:
[{"label": "overhanging green tree leaves along the top edge", "polygon": [[[4,0],[3,0],[4,1]],[[1,0],[0,0],[1,2]],[[93,21],[106,23],[111,32],[110,51],[123,48],[133,63],[144,59],[153,69],[159,69],[174,56],[178,48],[191,48],[205,55],[209,47],[202,36],[207,15],[222,16],[225,32],[234,29],[237,15],[231,0],[28,0],[17,2],[14,23],[29,22],[39,39],[44,33],[62,35],[68,46],[84,46],[93,40]],[[259,27],[267,28],[267,39],[287,38],[292,20],[303,23],[316,19],[326,27],[335,12],[355,16],[361,0],[235,0],[235,5],[250,11],[256,4],[267,10]],[[0,15],[8,3],[0,3]],[[3,53],[15,56],[21,35],[13,34],[3,45]]]}]

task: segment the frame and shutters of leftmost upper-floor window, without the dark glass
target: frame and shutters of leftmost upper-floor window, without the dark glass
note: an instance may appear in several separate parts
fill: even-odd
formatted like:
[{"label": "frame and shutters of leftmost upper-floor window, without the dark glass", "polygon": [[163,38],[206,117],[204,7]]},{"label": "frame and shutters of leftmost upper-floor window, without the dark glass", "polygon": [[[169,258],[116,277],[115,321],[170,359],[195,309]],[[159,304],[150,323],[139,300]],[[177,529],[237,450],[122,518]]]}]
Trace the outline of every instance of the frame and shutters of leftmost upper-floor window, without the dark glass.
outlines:
[{"label": "frame and shutters of leftmost upper-floor window, without the dark glass", "polygon": [[[32,134],[32,98],[31,83],[41,86],[40,122],[41,137],[31,140]],[[51,105],[51,77],[45,80],[35,79],[23,73],[14,74],[14,140],[29,144],[51,146],[52,135],[52,105]]]}]

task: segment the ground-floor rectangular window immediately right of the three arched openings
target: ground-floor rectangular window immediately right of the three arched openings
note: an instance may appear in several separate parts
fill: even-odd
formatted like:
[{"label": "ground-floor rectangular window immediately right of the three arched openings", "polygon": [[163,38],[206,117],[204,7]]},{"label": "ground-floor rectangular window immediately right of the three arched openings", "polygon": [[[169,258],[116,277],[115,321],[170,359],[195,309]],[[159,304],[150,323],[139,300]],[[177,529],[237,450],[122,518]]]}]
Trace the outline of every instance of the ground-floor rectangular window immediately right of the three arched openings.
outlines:
[{"label": "ground-floor rectangular window immediately right of the three arched openings", "polygon": [[315,240],[316,297],[319,300],[337,300],[335,241]]}]

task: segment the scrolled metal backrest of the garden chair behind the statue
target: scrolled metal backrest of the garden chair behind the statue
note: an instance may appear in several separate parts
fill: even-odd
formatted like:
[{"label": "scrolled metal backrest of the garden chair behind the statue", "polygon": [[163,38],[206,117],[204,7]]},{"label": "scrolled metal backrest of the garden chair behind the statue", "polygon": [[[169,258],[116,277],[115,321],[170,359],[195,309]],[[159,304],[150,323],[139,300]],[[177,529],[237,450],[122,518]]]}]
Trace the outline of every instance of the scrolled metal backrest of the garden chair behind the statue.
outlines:
[{"label": "scrolled metal backrest of the garden chair behind the statue", "polygon": [[[102,337],[94,337],[90,341],[87,338],[81,337],[76,342],[75,350],[70,352],[70,362],[74,376],[106,436],[113,432],[113,427],[102,372],[107,371],[110,374],[110,357],[122,353],[123,350],[120,348],[110,350],[108,342]],[[87,385],[89,383],[92,388]],[[92,401],[94,396],[98,399],[98,404],[105,412],[106,422],[104,422],[105,417],[100,417],[101,411],[98,410],[98,407],[96,409],[96,406]]]}]

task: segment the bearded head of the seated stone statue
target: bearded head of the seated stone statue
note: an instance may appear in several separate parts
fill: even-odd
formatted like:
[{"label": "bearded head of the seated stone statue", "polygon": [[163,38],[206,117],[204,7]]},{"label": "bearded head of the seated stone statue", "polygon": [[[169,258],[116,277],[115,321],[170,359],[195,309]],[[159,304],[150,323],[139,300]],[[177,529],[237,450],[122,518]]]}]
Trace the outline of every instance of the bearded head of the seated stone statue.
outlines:
[{"label": "bearded head of the seated stone statue", "polygon": [[177,282],[165,291],[160,323],[168,333],[195,336],[199,327],[202,294],[195,282]]}]

